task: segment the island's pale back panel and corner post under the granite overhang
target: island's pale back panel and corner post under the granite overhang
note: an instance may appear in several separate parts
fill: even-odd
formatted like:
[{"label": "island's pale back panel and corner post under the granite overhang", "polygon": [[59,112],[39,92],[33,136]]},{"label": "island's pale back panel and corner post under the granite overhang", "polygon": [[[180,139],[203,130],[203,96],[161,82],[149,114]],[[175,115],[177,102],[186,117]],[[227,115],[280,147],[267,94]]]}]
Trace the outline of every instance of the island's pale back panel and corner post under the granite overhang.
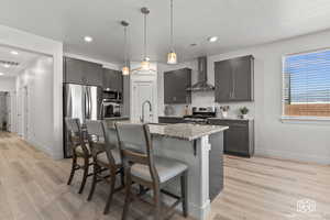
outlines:
[{"label": "island's pale back panel and corner post under the granite overhang", "polygon": [[[188,212],[189,216],[205,220],[210,211],[209,199],[209,138],[196,140],[196,154],[194,142],[172,139],[153,138],[156,155],[174,158],[188,165]],[[167,189],[180,195],[179,178],[168,184]],[[180,207],[178,207],[180,209]]]}]

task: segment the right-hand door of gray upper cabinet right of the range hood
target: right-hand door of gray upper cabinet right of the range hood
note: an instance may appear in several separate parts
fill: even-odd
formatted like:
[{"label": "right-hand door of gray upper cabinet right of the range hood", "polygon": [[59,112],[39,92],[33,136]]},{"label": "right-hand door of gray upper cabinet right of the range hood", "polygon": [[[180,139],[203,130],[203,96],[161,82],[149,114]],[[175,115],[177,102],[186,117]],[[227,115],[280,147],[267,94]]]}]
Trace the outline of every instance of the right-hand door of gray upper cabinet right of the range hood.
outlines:
[{"label": "right-hand door of gray upper cabinet right of the range hood", "polygon": [[252,100],[252,56],[239,57],[233,66],[233,100]]}]

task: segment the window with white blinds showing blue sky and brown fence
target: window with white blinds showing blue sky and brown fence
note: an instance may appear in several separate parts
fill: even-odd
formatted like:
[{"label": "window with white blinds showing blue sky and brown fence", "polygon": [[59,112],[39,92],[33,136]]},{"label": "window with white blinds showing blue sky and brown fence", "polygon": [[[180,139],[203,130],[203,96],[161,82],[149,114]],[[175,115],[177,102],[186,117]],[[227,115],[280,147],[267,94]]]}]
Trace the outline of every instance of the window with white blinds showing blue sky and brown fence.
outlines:
[{"label": "window with white blinds showing blue sky and brown fence", "polygon": [[283,84],[285,117],[330,117],[330,50],[285,56]]}]

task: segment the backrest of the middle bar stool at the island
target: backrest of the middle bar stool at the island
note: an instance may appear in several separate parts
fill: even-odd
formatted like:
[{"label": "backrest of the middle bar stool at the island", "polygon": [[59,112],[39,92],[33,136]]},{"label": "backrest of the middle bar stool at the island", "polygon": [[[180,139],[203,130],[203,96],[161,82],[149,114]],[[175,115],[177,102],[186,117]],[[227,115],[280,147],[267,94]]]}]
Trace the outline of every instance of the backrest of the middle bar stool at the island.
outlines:
[{"label": "backrest of the middle bar stool at the island", "polygon": [[97,154],[103,148],[106,150],[109,163],[114,165],[114,158],[112,156],[112,150],[118,148],[117,142],[113,143],[116,136],[111,136],[107,130],[106,122],[100,120],[86,120],[86,128],[88,133],[88,142],[91,154]]}]

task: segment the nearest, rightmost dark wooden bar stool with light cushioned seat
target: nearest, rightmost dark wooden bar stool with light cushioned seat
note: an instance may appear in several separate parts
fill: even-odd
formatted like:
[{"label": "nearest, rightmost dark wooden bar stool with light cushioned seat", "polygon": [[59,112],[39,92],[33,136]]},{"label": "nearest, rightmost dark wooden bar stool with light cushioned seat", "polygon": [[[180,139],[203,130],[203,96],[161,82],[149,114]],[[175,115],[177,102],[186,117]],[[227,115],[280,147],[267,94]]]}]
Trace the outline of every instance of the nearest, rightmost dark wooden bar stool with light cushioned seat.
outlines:
[{"label": "nearest, rightmost dark wooden bar stool with light cushioned seat", "polygon": [[[142,188],[146,187],[153,190],[155,220],[172,217],[174,208],[180,202],[184,217],[187,217],[187,165],[175,160],[154,156],[151,134],[146,124],[116,123],[116,128],[125,170],[125,204],[122,220],[128,218],[133,183],[139,184]],[[180,196],[164,190],[164,187],[175,177],[180,177]],[[166,212],[168,213],[166,217],[165,213],[162,215],[161,193],[176,199],[170,206],[170,210]]]}]

